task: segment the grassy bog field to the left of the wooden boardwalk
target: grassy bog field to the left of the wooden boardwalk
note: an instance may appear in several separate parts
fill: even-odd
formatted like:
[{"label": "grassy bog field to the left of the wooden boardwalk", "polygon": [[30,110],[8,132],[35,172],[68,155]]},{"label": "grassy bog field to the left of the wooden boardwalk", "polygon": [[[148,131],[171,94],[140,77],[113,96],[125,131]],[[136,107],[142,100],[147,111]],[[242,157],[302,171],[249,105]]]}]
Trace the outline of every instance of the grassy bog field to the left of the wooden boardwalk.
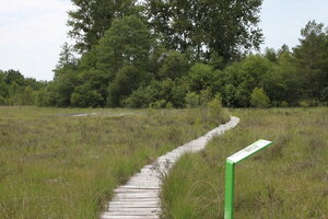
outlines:
[{"label": "grassy bog field to the left of the wooden boardwalk", "polygon": [[0,107],[0,218],[95,219],[118,184],[212,120],[206,110]]}]

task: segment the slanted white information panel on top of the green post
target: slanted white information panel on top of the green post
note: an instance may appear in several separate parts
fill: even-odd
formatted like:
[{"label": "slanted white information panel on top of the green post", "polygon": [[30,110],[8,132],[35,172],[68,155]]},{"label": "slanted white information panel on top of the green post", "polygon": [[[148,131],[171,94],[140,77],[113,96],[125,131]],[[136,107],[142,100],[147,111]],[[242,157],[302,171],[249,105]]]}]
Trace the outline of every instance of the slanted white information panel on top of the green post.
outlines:
[{"label": "slanted white information panel on top of the green post", "polygon": [[258,140],[250,146],[244,148],[243,150],[239,150],[235,154],[229,157],[226,160],[232,162],[232,163],[238,163],[243,161],[245,158],[248,158],[249,155],[253,155],[257,153],[258,151],[262,150],[263,148],[267,148],[270,146],[272,141],[268,140]]}]

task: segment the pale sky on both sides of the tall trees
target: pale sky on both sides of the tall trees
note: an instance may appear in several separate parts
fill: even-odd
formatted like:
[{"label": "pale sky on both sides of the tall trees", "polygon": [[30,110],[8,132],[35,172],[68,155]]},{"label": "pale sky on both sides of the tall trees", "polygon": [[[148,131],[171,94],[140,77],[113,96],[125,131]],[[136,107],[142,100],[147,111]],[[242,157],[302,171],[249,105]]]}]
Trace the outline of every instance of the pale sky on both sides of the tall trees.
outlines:
[{"label": "pale sky on both sides of the tall trees", "polygon": [[[70,0],[0,0],[0,70],[50,81],[67,36]],[[327,0],[263,0],[259,26],[266,47],[297,45],[309,20],[328,26]]]}]

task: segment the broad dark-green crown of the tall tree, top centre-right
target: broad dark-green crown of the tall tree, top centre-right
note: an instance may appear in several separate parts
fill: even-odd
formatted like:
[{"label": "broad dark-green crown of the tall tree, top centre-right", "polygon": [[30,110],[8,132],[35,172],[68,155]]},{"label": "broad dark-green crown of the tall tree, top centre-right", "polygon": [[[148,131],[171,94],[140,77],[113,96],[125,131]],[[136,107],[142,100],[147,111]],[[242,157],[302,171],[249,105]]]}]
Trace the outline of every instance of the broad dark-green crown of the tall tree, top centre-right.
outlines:
[{"label": "broad dark-green crown of the tall tree, top centre-right", "polygon": [[153,32],[169,49],[196,54],[216,53],[225,61],[262,42],[259,10],[262,0],[147,0]]}]

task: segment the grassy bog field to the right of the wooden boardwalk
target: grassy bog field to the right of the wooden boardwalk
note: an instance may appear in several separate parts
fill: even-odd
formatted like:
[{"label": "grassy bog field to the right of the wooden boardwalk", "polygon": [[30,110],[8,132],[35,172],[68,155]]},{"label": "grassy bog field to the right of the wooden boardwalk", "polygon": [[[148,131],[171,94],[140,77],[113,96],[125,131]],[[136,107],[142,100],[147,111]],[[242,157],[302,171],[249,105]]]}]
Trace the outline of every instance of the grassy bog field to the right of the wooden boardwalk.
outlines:
[{"label": "grassy bog field to the right of the wooden boardwalk", "polygon": [[274,143],[236,166],[236,219],[328,218],[328,108],[235,110],[241,124],[183,157],[165,180],[166,219],[222,219],[225,158]]}]

